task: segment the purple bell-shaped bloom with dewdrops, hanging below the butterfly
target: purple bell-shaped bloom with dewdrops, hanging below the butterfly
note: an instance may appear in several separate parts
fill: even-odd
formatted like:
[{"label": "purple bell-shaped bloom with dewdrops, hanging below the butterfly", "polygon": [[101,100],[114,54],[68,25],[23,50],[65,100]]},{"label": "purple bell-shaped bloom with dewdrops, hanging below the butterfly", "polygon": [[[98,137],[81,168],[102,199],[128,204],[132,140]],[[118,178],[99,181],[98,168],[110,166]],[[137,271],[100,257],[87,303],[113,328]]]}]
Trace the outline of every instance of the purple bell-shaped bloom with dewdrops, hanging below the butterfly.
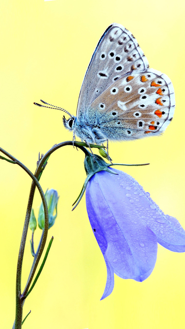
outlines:
[{"label": "purple bell-shaped bloom with dewdrops, hanging below the butterfly", "polygon": [[[178,220],[164,213],[141,185],[123,171],[96,172],[86,186],[86,207],[95,238],[107,267],[101,299],[114,288],[114,273],[143,281],[157,258],[157,242],[185,251],[185,231]],[[117,174],[117,175],[115,175]]]}]

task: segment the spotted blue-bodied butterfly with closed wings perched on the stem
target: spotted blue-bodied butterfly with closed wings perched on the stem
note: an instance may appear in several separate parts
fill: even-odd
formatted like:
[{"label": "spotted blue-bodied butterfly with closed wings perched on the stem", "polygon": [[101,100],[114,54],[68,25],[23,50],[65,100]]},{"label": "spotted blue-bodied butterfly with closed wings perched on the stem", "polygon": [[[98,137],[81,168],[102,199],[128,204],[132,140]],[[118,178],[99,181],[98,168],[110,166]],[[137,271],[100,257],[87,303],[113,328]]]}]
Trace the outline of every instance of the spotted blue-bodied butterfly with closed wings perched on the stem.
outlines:
[{"label": "spotted blue-bodied butterfly with closed wings perched on the stem", "polygon": [[161,135],[173,119],[174,89],[166,74],[149,68],[134,36],[124,26],[113,23],[90,60],[77,115],[55,108],[69,114],[69,119],[63,116],[63,124],[73,131],[73,140],[77,136],[88,145],[107,141],[108,148],[108,140]]}]

